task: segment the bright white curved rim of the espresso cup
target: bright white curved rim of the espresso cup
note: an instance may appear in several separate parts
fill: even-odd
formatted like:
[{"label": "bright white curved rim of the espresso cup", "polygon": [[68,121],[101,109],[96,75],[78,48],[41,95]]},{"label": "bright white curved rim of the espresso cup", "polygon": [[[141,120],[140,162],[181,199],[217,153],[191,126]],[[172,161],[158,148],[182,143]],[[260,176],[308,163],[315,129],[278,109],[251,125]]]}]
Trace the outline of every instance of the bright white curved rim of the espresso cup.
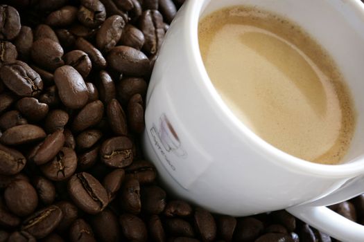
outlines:
[{"label": "bright white curved rim of the espresso cup", "polygon": [[[198,45],[198,21],[200,20],[200,16],[205,9],[205,6],[207,6],[211,1],[212,0],[190,0],[185,3],[184,8],[187,8],[187,16],[185,18],[185,21],[187,22],[185,24],[187,28],[185,28],[184,31],[186,31],[185,36],[187,36],[187,42],[192,49],[189,53],[189,55],[191,55],[191,62],[193,62],[191,66],[196,68],[196,73],[199,75],[198,80],[201,80],[198,82],[198,86],[201,90],[205,90],[204,95],[211,99],[211,102],[214,102],[214,105],[219,109],[219,111],[227,117],[226,122],[229,123],[228,125],[230,125],[234,130],[239,130],[239,133],[245,136],[248,142],[251,142],[252,145],[257,148],[257,152],[264,153],[270,162],[275,162],[277,165],[284,166],[288,169],[326,178],[350,178],[363,174],[364,159],[337,165],[324,165],[297,158],[270,145],[246,127],[245,124],[243,124],[243,122],[241,122],[236,115],[232,113],[211,83],[209,75],[207,74],[202,62],[200,47]],[[327,1],[327,3],[333,4],[331,1]],[[364,4],[360,0],[349,0],[348,4],[352,8],[352,11],[358,15],[362,15],[364,19]]]}]

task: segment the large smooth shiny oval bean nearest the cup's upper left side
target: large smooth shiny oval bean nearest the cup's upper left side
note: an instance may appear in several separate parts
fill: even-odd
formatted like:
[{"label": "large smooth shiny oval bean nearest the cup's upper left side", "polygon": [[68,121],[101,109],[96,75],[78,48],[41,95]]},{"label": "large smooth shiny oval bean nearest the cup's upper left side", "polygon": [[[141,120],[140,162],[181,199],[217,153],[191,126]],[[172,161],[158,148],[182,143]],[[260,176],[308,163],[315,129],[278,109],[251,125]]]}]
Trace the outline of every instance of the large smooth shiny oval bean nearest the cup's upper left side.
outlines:
[{"label": "large smooth shiny oval bean nearest the cup's upper left side", "polygon": [[149,71],[149,59],[141,51],[130,46],[116,46],[107,55],[107,62],[114,70],[125,75],[143,76]]}]

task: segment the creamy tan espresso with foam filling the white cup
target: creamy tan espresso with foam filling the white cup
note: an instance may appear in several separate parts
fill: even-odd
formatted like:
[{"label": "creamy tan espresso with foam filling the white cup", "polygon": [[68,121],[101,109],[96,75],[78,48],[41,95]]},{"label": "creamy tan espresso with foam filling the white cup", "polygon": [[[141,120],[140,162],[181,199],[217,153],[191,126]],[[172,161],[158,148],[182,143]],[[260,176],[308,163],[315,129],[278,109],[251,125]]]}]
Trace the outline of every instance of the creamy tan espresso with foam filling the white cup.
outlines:
[{"label": "creamy tan espresso with foam filling the white cup", "polygon": [[198,39],[212,84],[246,127],[298,158],[343,162],[354,104],[336,64],[300,26],[237,6],[201,19]]}]

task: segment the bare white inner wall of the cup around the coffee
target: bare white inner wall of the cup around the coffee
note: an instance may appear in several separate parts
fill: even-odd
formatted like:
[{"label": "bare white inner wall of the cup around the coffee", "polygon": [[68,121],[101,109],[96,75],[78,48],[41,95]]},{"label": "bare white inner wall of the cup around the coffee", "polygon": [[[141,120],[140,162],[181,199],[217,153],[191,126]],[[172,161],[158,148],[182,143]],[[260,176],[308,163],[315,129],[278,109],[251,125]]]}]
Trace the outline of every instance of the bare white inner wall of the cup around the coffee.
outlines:
[{"label": "bare white inner wall of the cup around the coffee", "polygon": [[[331,55],[347,82],[357,117],[349,151],[342,165],[335,166],[360,162],[364,168],[364,4],[360,0],[207,0],[198,6],[198,20],[220,8],[239,5],[268,10],[290,19],[309,32],[311,37]],[[198,21],[193,24],[197,25]],[[193,41],[198,45],[197,33]],[[198,62],[202,62],[200,55]],[[205,68],[204,71],[206,72]],[[211,86],[211,82],[209,85]],[[218,98],[216,90],[214,92],[213,96]],[[223,100],[220,99],[218,102]],[[222,106],[224,109],[229,109],[225,104]],[[247,129],[243,123],[239,123],[243,126],[241,130]]]}]

